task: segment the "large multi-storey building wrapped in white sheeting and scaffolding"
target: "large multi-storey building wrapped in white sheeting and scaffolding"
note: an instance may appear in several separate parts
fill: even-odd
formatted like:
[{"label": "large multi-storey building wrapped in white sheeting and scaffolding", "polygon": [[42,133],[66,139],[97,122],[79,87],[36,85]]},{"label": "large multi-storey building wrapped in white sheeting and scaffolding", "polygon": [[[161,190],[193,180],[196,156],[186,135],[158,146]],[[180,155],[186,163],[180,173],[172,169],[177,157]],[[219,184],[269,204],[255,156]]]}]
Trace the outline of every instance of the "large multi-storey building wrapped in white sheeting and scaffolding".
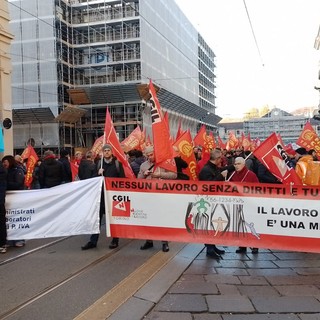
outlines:
[{"label": "large multi-storey building wrapped in white sheeting and scaffolding", "polygon": [[9,0],[14,146],[90,148],[106,106],[120,140],[151,130],[152,79],[178,123],[214,130],[215,55],[174,1]]}]

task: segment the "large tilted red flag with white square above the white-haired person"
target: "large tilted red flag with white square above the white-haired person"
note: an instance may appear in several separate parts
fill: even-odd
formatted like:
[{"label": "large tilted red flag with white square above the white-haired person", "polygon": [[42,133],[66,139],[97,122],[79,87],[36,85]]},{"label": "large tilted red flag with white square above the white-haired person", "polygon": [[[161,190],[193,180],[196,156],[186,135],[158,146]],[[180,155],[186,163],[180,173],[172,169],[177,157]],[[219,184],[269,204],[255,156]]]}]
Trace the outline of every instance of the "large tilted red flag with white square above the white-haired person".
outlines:
[{"label": "large tilted red flag with white square above the white-haired person", "polygon": [[253,155],[282,183],[302,184],[294,168],[289,167],[288,155],[275,133],[262,142]]}]

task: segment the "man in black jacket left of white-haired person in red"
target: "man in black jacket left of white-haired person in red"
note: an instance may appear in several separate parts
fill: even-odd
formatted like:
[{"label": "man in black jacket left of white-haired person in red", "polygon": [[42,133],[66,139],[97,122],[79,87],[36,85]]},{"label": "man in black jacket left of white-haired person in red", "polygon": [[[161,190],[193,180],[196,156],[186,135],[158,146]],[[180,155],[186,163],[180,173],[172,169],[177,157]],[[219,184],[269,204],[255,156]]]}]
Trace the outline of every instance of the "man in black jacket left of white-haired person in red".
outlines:
[{"label": "man in black jacket left of white-haired person in red", "polygon": [[[221,168],[222,152],[220,150],[212,150],[210,159],[204,165],[199,173],[200,181],[225,181],[228,172],[234,171],[234,166]],[[213,259],[221,259],[221,254],[225,250],[218,249],[214,244],[205,244],[207,248],[207,256]]]}]

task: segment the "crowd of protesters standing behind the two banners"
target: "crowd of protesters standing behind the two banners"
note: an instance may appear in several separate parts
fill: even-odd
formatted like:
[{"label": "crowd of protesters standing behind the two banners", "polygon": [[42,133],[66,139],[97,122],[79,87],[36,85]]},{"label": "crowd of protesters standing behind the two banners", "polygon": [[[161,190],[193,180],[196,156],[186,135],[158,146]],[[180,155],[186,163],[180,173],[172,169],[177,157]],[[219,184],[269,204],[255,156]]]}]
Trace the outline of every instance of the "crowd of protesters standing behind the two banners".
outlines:
[{"label": "crowd of protesters standing behind the two banners", "polygon": [[[235,150],[221,150],[215,148],[210,151],[209,157],[205,158],[201,147],[194,147],[194,156],[197,162],[197,176],[200,181],[237,181],[254,183],[281,183],[250,151],[242,148]],[[304,182],[307,165],[310,161],[318,161],[315,150],[298,148],[287,153],[290,158],[289,165],[295,168],[298,176]],[[174,148],[174,160],[176,172],[170,172],[154,165],[154,150],[152,146],[141,150],[131,150],[127,153],[128,162],[136,178],[144,179],[180,179],[188,180],[189,176],[184,172],[188,167],[186,161],[181,157],[178,148]],[[125,177],[123,165],[113,155],[111,145],[106,144],[102,148],[102,157],[95,158],[91,151],[85,156],[82,152],[76,152],[71,160],[67,150],[61,150],[59,155],[53,151],[44,152],[42,159],[39,159],[32,173],[32,184],[29,189],[51,188],[63,183],[68,183],[73,177],[71,164],[78,167],[80,180],[96,176],[104,177]],[[5,219],[5,195],[6,190],[25,189],[24,179],[26,175],[26,161],[20,155],[6,155],[0,163],[0,253],[5,253],[8,246],[22,247],[25,245],[23,239],[7,241],[6,219]],[[100,224],[105,212],[104,193],[101,194]],[[82,246],[82,250],[95,248],[99,234],[91,235],[89,241]],[[118,238],[112,238],[110,249],[117,248]],[[221,258],[224,250],[218,249],[215,245],[206,244],[207,256],[215,259]],[[141,246],[142,250],[153,247],[152,240],[146,240]],[[169,251],[167,241],[162,242],[162,250]],[[237,253],[245,253],[246,248],[240,247]],[[252,253],[258,253],[257,248],[252,248]]]}]

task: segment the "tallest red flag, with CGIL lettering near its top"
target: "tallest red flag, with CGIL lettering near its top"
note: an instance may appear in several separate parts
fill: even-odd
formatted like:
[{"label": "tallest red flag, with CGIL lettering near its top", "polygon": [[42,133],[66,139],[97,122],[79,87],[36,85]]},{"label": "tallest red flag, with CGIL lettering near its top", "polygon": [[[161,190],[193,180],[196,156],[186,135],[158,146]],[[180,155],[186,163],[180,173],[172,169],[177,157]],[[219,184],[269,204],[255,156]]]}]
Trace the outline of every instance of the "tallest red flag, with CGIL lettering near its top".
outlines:
[{"label": "tallest red flag, with CGIL lettering near its top", "polygon": [[151,80],[149,83],[149,93],[151,95],[151,122],[156,165],[169,171],[177,172],[177,167],[173,159],[172,144],[170,143],[168,122],[162,114],[160,103]]}]

